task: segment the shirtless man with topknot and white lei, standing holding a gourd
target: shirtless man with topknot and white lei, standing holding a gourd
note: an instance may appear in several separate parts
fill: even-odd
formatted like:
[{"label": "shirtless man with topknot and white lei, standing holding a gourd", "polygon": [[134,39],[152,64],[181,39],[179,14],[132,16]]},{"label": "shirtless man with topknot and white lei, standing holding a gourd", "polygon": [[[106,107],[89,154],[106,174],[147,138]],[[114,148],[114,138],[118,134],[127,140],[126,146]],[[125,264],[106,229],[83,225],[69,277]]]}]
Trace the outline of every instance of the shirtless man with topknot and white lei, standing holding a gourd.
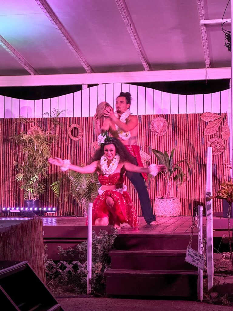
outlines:
[{"label": "shirtless man with topknot and white lei, standing holding a gourd", "polygon": [[[94,115],[95,131],[97,135],[101,132],[109,131],[111,136],[119,138],[126,146],[130,154],[136,158],[137,164],[139,166],[143,166],[139,153],[140,148],[137,146],[136,140],[138,135],[138,118],[137,116],[130,114],[130,104],[130,93],[121,92],[116,99],[116,114],[114,113],[112,107],[107,107],[104,115],[108,118],[104,121],[101,128],[97,114]],[[142,215],[145,221],[148,225],[157,225],[144,181],[144,179],[147,179],[147,175],[127,171],[126,176],[134,185],[138,193]]]}]

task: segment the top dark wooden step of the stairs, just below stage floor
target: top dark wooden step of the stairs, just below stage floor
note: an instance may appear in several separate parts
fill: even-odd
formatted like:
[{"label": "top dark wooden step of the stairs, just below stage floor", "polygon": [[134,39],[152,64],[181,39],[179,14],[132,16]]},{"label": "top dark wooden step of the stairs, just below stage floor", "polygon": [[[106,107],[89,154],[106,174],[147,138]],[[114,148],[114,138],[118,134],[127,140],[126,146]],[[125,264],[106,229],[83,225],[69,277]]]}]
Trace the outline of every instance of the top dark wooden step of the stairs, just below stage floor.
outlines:
[{"label": "top dark wooden step of the stairs, just below stage floor", "polygon": [[[116,249],[171,249],[186,250],[190,234],[119,234],[115,241]],[[197,234],[192,239],[192,248],[197,249]]]}]

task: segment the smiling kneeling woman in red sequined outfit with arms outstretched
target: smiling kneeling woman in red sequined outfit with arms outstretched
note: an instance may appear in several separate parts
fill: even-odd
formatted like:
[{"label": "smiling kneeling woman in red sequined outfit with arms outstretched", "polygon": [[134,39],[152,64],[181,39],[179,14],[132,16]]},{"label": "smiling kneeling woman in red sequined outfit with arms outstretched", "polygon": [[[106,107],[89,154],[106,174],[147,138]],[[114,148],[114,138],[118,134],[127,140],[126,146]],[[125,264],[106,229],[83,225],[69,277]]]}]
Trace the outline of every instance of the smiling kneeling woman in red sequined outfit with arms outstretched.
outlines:
[{"label": "smiling kneeling woman in red sequined outfit with arms outstretched", "polygon": [[138,216],[124,185],[126,170],[155,176],[166,167],[152,164],[149,168],[144,168],[132,164],[126,147],[117,138],[101,134],[98,142],[101,148],[95,152],[89,165],[80,167],[72,165],[70,160],[63,161],[60,158],[49,158],[48,162],[61,166],[62,171],[71,169],[82,174],[97,172],[102,186],[93,202],[93,225],[114,225],[114,228],[120,229],[120,224],[126,222],[131,227],[138,227]]}]

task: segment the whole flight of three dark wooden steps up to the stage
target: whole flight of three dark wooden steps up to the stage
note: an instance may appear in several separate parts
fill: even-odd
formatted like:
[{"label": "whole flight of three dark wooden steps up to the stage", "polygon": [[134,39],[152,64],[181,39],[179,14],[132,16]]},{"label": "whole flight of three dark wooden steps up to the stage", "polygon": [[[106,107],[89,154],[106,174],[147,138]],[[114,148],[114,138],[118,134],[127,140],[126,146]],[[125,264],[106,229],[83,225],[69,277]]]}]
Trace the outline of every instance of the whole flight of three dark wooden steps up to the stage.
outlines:
[{"label": "whole flight of three dark wooden steps up to the stage", "polygon": [[197,299],[198,271],[185,262],[189,239],[190,234],[119,234],[110,252],[111,269],[104,273],[107,295]]}]

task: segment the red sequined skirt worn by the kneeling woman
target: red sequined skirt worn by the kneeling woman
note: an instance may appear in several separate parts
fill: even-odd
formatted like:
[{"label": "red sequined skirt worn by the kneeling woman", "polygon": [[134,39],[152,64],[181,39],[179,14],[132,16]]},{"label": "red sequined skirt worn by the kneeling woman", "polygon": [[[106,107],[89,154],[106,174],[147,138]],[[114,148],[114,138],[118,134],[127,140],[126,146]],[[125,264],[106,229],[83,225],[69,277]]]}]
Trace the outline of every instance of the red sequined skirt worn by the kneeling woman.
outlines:
[{"label": "red sequined skirt worn by the kneeling woman", "polygon": [[[106,204],[107,197],[114,201],[112,211]],[[122,194],[114,190],[105,190],[98,195],[93,202],[92,225],[95,225],[97,218],[108,216],[109,225],[128,223],[131,227],[139,227],[138,216],[132,199],[127,191]]]}]

